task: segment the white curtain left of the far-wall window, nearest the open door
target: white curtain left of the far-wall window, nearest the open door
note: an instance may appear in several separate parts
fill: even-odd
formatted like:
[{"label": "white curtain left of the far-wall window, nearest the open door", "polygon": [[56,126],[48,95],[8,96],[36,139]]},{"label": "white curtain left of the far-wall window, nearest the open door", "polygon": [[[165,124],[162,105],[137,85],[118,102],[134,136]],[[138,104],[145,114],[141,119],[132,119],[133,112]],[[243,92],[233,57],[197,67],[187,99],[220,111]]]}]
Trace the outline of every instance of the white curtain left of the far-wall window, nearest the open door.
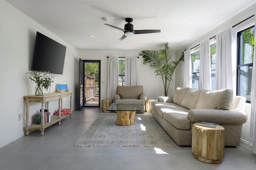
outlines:
[{"label": "white curtain left of the far-wall window, nearest the open door", "polygon": [[108,89],[107,98],[112,99],[118,86],[118,57],[108,58]]}]

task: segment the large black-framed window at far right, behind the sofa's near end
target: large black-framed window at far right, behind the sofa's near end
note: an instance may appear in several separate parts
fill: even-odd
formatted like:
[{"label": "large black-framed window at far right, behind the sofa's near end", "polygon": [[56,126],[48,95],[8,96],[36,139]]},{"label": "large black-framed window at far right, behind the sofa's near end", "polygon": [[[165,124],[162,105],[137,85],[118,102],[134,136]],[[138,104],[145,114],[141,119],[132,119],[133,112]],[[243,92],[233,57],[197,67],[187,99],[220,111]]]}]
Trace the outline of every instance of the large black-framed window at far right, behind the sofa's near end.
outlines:
[{"label": "large black-framed window at far right, behind the sofa's near end", "polygon": [[254,26],[237,33],[237,95],[250,103],[254,57]]}]

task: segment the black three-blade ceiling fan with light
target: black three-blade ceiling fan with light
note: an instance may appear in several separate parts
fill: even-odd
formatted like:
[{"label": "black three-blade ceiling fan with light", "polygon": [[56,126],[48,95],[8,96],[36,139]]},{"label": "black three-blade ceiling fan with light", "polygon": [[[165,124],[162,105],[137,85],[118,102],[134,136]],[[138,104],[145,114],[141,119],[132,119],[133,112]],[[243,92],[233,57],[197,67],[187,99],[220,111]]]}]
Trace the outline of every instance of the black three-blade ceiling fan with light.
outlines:
[{"label": "black three-blade ceiling fan with light", "polygon": [[109,24],[105,24],[107,26],[116,28],[116,29],[121,30],[122,32],[124,32],[124,35],[119,39],[119,41],[122,41],[127,36],[132,36],[133,34],[148,34],[148,33],[156,33],[156,32],[161,31],[161,30],[133,30],[133,25],[131,24],[133,19],[132,18],[125,18],[125,21],[128,22],[128,23],[124,25],[124,29],[118,28],[116,26],[112,26],[112,25],[109,25]]}]

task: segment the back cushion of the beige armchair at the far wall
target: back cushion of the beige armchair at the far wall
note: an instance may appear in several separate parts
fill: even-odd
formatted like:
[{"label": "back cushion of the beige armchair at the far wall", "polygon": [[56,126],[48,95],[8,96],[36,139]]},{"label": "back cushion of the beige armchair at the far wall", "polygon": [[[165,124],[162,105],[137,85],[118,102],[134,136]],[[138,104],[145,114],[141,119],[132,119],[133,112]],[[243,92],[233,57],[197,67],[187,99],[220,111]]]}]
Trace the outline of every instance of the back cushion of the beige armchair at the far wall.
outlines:
[{"label": "back cushion of the beige armchair at the far wall", "polygon": [[143,95],[143,86],[118,86],[116,94],[121,96],[121,99],[139,99]]}]

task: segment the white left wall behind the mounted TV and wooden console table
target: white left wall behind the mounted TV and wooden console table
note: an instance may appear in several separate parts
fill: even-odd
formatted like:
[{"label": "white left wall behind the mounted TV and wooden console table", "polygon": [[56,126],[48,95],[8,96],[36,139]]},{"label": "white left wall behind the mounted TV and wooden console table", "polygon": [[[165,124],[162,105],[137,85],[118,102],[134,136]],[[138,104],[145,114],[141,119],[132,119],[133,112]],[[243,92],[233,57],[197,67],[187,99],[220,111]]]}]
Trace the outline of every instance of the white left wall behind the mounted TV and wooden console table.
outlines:
[{"label": "white left wall behind the mounted TV and wooden console table", "polygon": [[[24,96],[35,93],[36,84],[28,79],[26,72],[32,66],[36,31],[67,47],[63,75],[54,74],[56,77],[50,92],[55,92],[56,83],[66,83],[74,92],[77,89],[79,51],[6,1],[0,0],[0,148],[24,136],[23,120],[18,121],[18,114],[22,113],[25,117]],[[75,96],[72,110],[77,107]],[[63,101],[63,107],[69,107],[69,99]],[[34,123],[33,113],[40,107],[40,103],[31,104],[30,123]],[[58,101],[50,102],[50,109],[58,109]]]}]

